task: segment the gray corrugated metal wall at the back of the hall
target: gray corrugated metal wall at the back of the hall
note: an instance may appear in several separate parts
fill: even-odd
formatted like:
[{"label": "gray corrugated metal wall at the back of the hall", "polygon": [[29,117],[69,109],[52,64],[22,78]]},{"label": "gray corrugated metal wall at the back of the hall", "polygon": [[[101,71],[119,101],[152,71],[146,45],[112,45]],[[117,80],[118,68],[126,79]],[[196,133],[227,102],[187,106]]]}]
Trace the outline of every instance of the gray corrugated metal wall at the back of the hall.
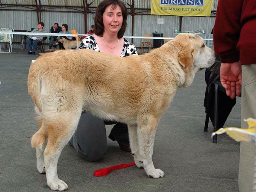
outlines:
[{"label": "gray corrugated metal wall at the back of the hall", "polygon": [[[148,2],[147,2],[148,3]],[[145,3],[145,4],[147,4]],[[148,5],[147,5],[148,6]],[[45,9],[46,7],[44,7]],[[24,7],[15,7],[24,9]],[[76,8],[82,11],[81,8]],[[45,29],[49,31],[54,23],[66,23],[69,29],[76,29],[79,34],[84,34],[84,15],[81,12],[61,12],[71,9],[55,8],[54,12],[42,12],[41,20]],[[73,10],[74,11],[74,10]],[[163,18],[164,24],[157,24],[157,19]],[[87,29],[94,23],[94,14],[87,15]],[[128,15],[128,28],[125,35],[131,36],[131,15]],[[215,17],[183,17],[182,31],[204,30],[209,34],[215,22]],[[175,29],[179,29],[180,17],[163,15],[135,15],[134,36],[152,35],[152,32],[161,32],[164,37],[172,37]],[[37,27],[37,13],[35,11],[0,11],[0,27],[9,27],[18,30],[28,30]],[[21,41],[21,35],[14,35],[15,42]],[[131,39],[128,39],[131,41]],[[142,39],[134,39],[134,44],[140,47]],[[48,41],[47,41],[48,43]],[[13,48],[20,48],[20,44],[13,44]]]}]

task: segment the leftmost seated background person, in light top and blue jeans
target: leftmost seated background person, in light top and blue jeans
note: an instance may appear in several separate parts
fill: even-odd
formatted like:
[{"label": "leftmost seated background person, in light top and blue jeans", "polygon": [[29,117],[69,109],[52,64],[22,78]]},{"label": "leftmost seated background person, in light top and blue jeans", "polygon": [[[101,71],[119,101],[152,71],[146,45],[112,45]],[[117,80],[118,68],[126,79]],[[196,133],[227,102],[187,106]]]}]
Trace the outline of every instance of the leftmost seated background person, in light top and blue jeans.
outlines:
[{"label": "leftmost seated background person, in light top and blue jeans", "polygon": [[[43,22],[39,22],[38,23],[38,29],[34,29],[32,30],[32,33],[45,33],[45,29],[44,29],[44,23]],[[35,55],[35,51],[36,51],[36,47],[39,41],[41,41],[41,39],[43,39],[44,35],[30,35],[29,38],[26,39],[26,43],[27,43],[27,50],[28,53],[27,54],[34,54]],[[33,52],[32,52],[33,50]]]}]

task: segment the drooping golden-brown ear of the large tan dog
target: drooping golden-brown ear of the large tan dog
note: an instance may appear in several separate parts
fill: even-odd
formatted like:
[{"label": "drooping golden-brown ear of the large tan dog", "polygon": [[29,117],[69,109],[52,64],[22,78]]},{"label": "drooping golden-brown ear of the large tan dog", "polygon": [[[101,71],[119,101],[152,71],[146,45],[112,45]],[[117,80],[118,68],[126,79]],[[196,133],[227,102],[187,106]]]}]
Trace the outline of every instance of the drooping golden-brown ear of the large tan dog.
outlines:
[{"label": "drooping golden-brown ear of the large tan dog", "polygon": [[184,46],[179,51],[178,61],[182,65],[183,70],[187,73],[194,63],[194,48],[192,46]]}]

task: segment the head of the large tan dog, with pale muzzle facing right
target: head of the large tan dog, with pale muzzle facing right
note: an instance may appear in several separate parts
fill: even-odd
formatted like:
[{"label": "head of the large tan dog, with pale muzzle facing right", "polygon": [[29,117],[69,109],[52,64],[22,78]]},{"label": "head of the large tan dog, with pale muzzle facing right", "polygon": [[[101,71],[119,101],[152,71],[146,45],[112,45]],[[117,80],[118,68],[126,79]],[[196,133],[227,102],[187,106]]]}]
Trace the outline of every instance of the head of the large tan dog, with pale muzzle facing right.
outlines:
[{"label": "head of the large tan dog, with pale muzzle facing right", "polygon": [[181,33],[168,43],[175,45],[177,61],[185,72],[182,87],[192,84],[196,72],[211,67],[215,62],[214,51],[207,47],[204,39],[198,35]]}]

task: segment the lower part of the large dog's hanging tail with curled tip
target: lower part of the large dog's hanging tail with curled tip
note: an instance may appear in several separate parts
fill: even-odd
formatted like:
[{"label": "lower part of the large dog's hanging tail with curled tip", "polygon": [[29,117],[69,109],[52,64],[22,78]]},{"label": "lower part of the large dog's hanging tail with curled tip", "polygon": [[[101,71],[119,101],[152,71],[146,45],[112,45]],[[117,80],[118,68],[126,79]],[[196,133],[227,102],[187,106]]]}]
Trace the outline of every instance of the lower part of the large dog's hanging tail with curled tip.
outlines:
[{"label": "lower part of the large dog's hanging tail with curled tip", "polygon": [[43,123],[42,114],[36,106],[35,106],[35,113],[36,113],[36,119],[38,121],[40,129],[33,135],[31,139],[31,145],[32,147],[42,149],[47,138],[47,131]]}]

